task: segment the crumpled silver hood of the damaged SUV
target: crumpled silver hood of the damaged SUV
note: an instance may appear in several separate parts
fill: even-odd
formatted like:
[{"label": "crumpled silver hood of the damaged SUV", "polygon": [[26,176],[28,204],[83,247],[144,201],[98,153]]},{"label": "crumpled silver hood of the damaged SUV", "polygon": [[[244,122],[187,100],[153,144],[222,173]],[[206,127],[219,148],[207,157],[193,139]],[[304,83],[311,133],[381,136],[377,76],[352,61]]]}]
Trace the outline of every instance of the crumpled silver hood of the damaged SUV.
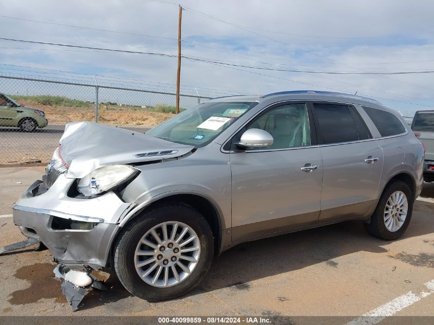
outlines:
[{"label": "crumpled silver hood of the damaged SUV", "polygon": [[[66,124],[59,141],[61,156],[69,165],[67,178],[82,178],[105,165],[155,161],[179,157],[194,146],[178,144],[143,133],[92,122]],[[169,154],[160,154],[169,151]],[[135,157],[137,154],[148,154]]]}]

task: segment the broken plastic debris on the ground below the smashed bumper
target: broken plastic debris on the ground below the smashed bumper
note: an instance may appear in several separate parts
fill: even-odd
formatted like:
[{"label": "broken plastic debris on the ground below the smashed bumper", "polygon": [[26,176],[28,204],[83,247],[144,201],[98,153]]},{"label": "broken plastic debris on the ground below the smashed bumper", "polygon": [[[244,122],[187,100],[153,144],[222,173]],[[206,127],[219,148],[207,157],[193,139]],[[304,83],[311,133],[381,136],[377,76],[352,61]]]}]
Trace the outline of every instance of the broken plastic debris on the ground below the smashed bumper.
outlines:
[{"label": "broken plastic debris on the ground below the smashed bumper", "polygon": [[[71,305],[73,312],[78,309],[80,302],[91,287],[102,291],[107,290],[106,286],[91,275],[90,270],[87,269],[71,270],[66,265],[59,264],[55,267],[53,273],[56,278],[63,280],[61,285],[62,293]],[[69,275],[70,273],[71,275]]]}]

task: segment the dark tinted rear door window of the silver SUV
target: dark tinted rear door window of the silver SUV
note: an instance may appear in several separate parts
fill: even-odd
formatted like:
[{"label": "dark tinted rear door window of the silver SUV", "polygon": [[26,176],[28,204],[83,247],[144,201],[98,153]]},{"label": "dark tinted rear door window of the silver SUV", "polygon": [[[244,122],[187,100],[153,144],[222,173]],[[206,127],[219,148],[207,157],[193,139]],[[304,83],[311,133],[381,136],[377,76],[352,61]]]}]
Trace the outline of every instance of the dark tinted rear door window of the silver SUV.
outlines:
[{"label": "dark tinted rear door window of the silver SUV", "polygon": [[313,104],[321,144],[357,141],[357,129],[347,105]]}]

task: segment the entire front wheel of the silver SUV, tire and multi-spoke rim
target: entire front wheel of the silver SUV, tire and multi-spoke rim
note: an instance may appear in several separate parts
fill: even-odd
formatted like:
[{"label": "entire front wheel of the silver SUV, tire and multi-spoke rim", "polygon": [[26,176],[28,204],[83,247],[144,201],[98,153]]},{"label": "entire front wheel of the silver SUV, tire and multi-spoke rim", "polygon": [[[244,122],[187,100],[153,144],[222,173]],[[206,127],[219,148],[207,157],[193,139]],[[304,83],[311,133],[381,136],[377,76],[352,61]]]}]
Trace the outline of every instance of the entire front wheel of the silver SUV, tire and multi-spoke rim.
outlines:
[{"label": "entire front wheel of the silver SUV, tire and multi-spoke rim", "polygon": [[131,294],[148,301],[191,291],[209,270],[211,228],[190,205],[159,205],[136,217],[115,244],[115,270]]}]

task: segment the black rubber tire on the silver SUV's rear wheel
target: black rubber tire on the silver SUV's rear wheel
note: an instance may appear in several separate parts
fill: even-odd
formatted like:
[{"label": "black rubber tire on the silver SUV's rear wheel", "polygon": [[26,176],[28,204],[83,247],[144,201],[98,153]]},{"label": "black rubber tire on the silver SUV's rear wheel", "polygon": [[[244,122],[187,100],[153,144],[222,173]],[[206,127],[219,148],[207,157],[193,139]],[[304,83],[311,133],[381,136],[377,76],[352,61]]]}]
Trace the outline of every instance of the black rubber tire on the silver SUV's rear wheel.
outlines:
[{"label": "black rubber tire on the silver SUV's rear wheel", "polygon": [[[389,198],[391,198],[392,194],[394,193],[403,193],[406,197],[407,202],[407,211],[405,215],[405,220],[402,223],[402,225],[397,229],[393,231],[393,228],[390,229],[388,226],[386,226],[386,204],[389,204],[390,201]],[[368,231],[369,234],[371,234],[374,237],[383,239],[383,240],[395,240],[400,238],[404,232],[406,231],[408,224],[411,220],[411,215],[413,212],[413,195],[411,193],[410,188],[408,185],[402,181],[394,181],[393,183],[389,184],[383,191],[383,194],[378,202],[378,205],[375,208],[374,213],[371,216],[371,223],[364,223],[365,229]],[[404,203],[405,204],[405,203]],[[401,206],[401,209],[404,207],[404,205]],[[389,209],[388,209],[389,211]],[[397,212],[396,210],[394,210]],[[399,211],[397,212],[398,215],[400,215]],[[402,213],[402,211],[401,211]],[[401,215],[401,218],[404,216],[404,214]],[[393,217],[392,217],[393,219]],[[400,221],[398,217],[395,219]],[[394,224],[397,225],[397,221],[392,221],[391,225]],[[389,225],[390,227],[390,225]],[[397,225],[398,227],[398,225]]]}]

